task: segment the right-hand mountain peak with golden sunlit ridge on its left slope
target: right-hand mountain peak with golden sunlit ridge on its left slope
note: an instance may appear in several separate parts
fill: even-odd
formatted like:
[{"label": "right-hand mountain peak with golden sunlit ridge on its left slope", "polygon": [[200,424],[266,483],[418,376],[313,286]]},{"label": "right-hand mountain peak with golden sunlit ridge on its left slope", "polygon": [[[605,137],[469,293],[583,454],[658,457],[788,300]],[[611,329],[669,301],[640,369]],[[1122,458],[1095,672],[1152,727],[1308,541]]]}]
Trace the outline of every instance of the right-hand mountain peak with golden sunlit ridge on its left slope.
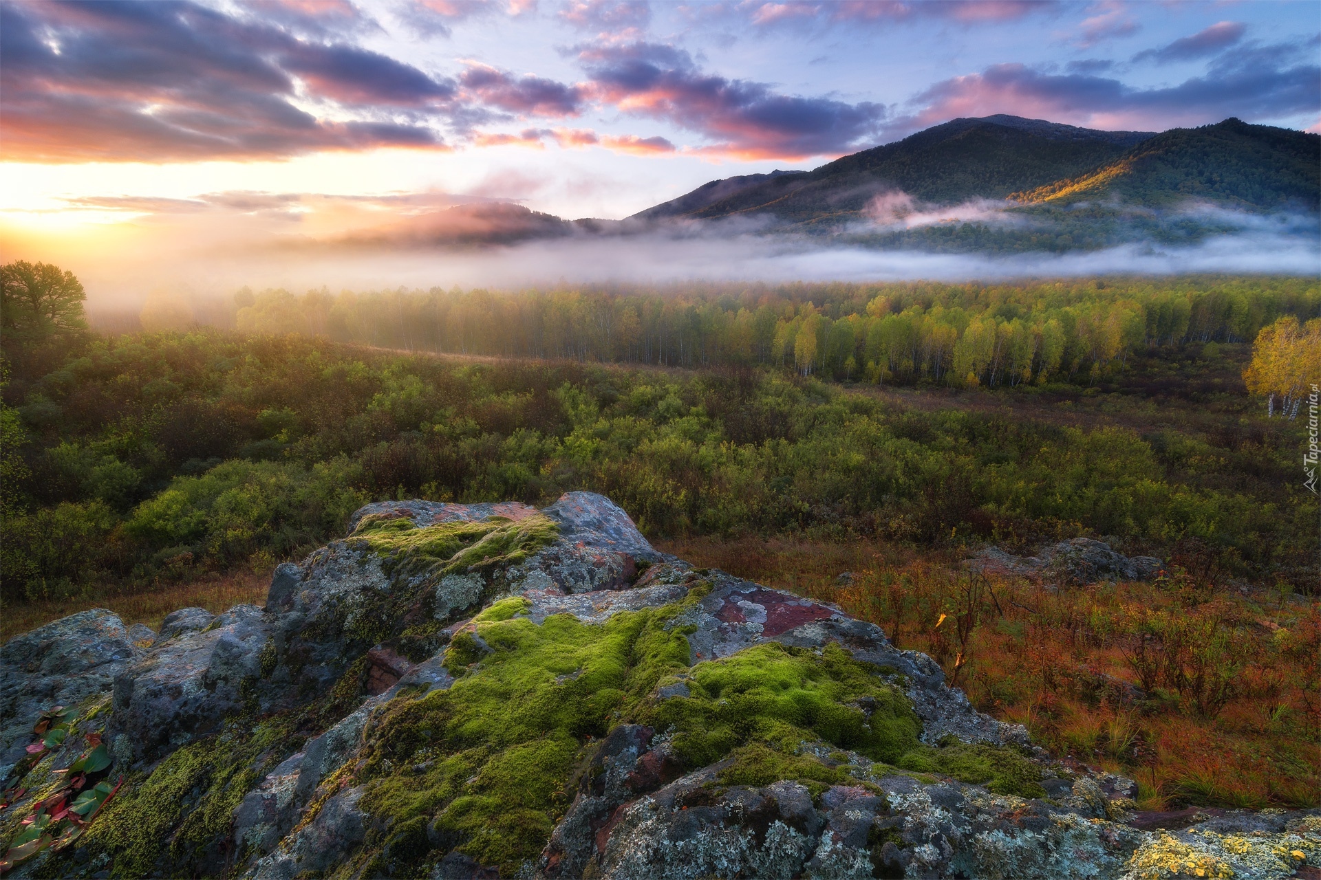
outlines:
[{"label": "right-hand mountain peak with golden sunlit ridge on its left slope", "polygon": [[1028,204],[1194,198],[1232,207],[1321,207],[1321,136],[1226,119],[1173,128],[1086,174],[1016,193]]}]

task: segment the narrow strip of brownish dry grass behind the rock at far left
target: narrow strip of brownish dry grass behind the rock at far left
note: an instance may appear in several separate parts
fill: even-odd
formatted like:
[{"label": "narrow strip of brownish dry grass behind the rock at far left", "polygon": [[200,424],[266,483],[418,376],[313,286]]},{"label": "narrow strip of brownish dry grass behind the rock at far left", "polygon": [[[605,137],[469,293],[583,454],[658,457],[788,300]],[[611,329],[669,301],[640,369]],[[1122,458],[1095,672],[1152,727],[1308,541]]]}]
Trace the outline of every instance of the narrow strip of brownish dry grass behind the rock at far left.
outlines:
[{"label": "narrow strip of brownish dry grass behind the rock at far left", "polygon": [[9,606],[0,615],[0,643],[52,620],[89,608],[110,608],[125,625],[143,623],[157,629],[170,611],[188,607],[221,612],[244,602],[262,604],[271,586],[271,573],[234,571],[199,581],[170,584],[147,592],[90,595],[73,599]]}]

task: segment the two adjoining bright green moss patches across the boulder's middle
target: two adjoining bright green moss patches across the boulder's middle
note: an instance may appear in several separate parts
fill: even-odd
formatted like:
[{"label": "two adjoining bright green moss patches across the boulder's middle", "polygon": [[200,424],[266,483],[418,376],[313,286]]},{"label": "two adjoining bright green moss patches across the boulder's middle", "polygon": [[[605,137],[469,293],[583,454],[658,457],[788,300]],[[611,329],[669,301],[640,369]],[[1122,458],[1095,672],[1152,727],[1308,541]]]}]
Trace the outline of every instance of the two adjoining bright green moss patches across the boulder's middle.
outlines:
[{"label": "two adjoining bright green moss patches across the boulder's middle", "polygon": [[[474,617],[476,632],[446,652],[464,677],[446,691],[391,701],[376,723],[359,780],[362,806],[382,817],[382,830],[369,833],[362,864],[425,876],[457,848],[517,873],[568,807],[569,780],[592,743],[621,722],[674,728],[690,767],[733,753],[720,785],[793,778],[814,793],[860,782],[797,755],[803,740],[890,759],[918,744],[902,693],[835,645],[820,654],[758,645],[687,670],[691,627],[672,621],[704,592],[598,625],[569,615],[538,625],[522,616],[522,598]],[[657,686],[684,672],[694,695],[657,703]],[[433,846],[420,846],[420,827]]]}]

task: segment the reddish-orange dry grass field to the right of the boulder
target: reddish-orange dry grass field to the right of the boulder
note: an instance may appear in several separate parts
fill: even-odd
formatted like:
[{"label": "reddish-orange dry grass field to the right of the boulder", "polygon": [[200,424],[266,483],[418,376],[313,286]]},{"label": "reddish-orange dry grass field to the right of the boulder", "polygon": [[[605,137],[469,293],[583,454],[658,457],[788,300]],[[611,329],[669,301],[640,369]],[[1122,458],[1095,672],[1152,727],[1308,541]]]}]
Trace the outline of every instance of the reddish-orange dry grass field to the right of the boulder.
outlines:
[{"label": "reddish-orange dry grass field to the right of the boulder", "polygon": [[1058,756],[1135,778],[1145,809],[1321,805],[1314,596],[1217,587],[1180,569],[1156,584],[1054,591],[871,544],[663,549],[880,624],[935,657],[978,708],[1026,724]]}]

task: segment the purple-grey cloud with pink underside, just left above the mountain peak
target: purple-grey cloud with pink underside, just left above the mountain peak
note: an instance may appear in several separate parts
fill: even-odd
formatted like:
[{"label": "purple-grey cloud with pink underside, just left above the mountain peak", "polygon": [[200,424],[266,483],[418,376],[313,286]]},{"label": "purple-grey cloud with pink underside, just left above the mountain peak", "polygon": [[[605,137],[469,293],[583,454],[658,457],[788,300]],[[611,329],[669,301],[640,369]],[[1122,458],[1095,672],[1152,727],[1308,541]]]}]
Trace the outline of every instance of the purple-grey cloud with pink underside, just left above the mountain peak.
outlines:
[{"label": "purple-grey cloud with pink underside, just left above the mountain peak", "polygon": [[638,116],[663,119],[716,144],[701,152],[742,158],[803,158],[856,149],[875,137],[880,104],[779,95],[769,86],[705,74],[662,44],[580,47],[592,96]]}]

